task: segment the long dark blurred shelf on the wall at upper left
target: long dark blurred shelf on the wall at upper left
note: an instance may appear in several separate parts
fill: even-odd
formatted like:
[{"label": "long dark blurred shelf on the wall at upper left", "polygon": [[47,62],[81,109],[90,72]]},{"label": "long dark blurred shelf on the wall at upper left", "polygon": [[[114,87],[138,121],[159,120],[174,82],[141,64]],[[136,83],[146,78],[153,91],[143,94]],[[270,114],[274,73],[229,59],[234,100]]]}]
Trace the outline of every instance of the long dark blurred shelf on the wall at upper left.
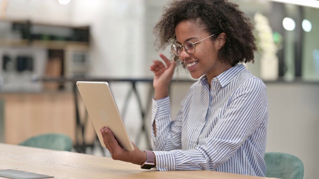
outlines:
[{"label": "long dark blurred shelf on the wall at upper left", "polygon": [[[42,46],[50,49],[65,49],[68,46],[86,48],[90,40],[90,26],[37,23],[30,20],[0,20],[5,22],[0,45]],[[7,38],[7,36],[15,36]]]}]

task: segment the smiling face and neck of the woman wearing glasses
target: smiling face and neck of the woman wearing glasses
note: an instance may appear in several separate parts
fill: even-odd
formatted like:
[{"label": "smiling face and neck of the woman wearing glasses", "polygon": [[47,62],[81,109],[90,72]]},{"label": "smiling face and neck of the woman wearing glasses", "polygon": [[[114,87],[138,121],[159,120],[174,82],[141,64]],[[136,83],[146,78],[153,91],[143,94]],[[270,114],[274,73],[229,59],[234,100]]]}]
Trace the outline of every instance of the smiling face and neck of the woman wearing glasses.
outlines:
[{"label": "smiling face and neck of the woman wearing glasses", "polygon": [[[195,22],[186,20],[176,25],[175,35],[177,43],[182,45],[185,41],[195,43],[212,34],[199,27]],[[183,48],[179,59],[186,65],[192,78],[198,79],[206,74],[210,84],[214,77],[232,67],[230,64],[221,63],[217,59],[217,52],[224,45],[225,38],[226,36],[223,34],[222,36],[219,35],[214,42],[210,38],[200,41],[195,45],[194,54],[188,54]]]}]

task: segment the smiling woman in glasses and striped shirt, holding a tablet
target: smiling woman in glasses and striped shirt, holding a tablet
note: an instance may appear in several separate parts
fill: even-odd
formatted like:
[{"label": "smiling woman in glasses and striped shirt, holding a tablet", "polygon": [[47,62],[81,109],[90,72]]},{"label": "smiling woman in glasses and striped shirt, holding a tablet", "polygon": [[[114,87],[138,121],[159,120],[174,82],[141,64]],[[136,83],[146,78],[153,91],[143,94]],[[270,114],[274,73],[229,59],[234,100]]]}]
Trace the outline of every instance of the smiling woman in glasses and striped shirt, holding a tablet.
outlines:
[{"label": "smiling woman in glasses and striped shirt, holding a tablet", "polygon": [[[100,132],[112,158],[149,169],[211,170],[266,174],[268,122],[266,86],[242,63],[254,62],[252,24],[228,0],[173,0],[155,27],[158,47],[172,43],[177,57],[153,61],[154,151],[122,149],[108,128]],[[180,60],[180,62],[178,61]],[[168,87],[176,63],[194,79],[176,118],[171,119]]]}]

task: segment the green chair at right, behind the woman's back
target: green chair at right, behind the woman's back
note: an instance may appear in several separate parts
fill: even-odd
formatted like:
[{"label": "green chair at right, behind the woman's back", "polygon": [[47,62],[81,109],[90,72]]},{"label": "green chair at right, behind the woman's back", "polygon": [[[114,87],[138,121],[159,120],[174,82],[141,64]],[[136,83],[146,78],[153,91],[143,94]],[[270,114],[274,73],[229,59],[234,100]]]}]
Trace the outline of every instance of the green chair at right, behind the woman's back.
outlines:
[{"label": "green chair at right, behind the woman's back", "polygon": [[304,164],[296,156],[279,152],[266,152],[266,177],[279,179],[303,179]]}]

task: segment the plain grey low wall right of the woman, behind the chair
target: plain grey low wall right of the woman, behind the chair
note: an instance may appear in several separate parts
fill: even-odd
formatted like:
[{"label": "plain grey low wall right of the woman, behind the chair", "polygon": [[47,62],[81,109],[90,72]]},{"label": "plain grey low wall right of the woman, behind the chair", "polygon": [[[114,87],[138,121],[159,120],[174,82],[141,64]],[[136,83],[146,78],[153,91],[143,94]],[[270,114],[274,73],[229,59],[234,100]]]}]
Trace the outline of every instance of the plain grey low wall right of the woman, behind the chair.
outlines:
[{"label": "plain grey low wall right of the woman, behind the chair", "polygon": [[318,177],[319,84],[266,84],[269,123],[266,151],[286,152],[305,165],[305,179]]}]

